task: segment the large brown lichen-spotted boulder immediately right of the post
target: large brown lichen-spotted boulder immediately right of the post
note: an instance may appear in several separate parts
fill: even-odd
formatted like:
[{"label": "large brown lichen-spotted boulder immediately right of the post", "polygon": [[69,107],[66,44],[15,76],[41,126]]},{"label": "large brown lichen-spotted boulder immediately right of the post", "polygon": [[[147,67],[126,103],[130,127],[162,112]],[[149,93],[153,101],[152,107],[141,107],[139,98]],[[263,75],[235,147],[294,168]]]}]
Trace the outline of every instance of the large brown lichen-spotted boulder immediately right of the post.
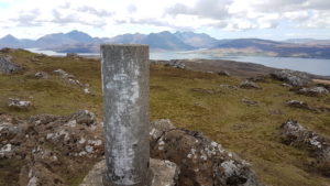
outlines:
[{"label": "large brown lichen-spotted boulder immediately right of the post", "polygon": [[199,132],[175,128],[169,120],[151,124],[151,155],[180,168],[180,186],[262,185],[251,166]]}]

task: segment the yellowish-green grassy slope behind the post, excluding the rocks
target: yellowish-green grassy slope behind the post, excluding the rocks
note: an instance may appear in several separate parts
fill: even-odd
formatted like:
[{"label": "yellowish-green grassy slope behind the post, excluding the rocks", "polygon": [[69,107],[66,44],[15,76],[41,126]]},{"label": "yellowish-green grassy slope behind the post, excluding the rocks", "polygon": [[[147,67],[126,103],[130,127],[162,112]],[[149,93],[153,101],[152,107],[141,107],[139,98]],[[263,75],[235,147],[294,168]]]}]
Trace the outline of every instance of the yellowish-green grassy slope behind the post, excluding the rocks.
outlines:
[{"label": "yellowish-green grassy slope behind the post, excluding the rocks", "polygon": [[[100,66],[97,61],[42,57],[40,62],[32,62],[32,53],[21,51],[11,55],[26,70],[18,75],[0,75],[0,112],[29,117],[36,113],[67,114],[78,109],[89,109],[99,117],[102,114]],[[81,88],[68,85],[56,76],[50,79],[33,77],[37,70],[52,73],[57,68],[90,84],[95,96],[84,95]],[[330,96],[299,96],[271,79],[260,84],[262,90],[230,90],[219,86],[239,83],[233,77],[152,65],[151,119],[168,118],[177,127],[204,132],[251,162],[267,185],[326,186],[329,178],[307,169],[315,160],[305,150],[282,144],[277,129],[285,120],[296,119],[302,125],[330,136],[329,112],[314,113],[284,106],[288,99],[298,99],[311,106],[329,107]],[[29,112],[9,110],[6,107],[9,97],[32,100],[35,109]],[[242,103],[242,98],[256,100],[260,105],[248,107]]]}]

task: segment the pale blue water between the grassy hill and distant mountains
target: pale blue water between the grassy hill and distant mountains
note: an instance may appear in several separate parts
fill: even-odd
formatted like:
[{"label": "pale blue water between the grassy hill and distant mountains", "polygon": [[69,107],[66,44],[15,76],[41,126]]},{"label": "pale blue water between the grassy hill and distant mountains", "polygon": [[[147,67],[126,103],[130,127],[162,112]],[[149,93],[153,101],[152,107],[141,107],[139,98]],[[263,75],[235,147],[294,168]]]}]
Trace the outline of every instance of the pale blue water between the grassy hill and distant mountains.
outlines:
[{"label": "pale blue water between the grassy hill and distant mountains", "polygon": [[[34,53],[46,55],[64,56],[66,53],[56,53],[54,51],[41,51],[37,48],[28,48]],[[79,55],[99,55],[99,54],[79,54]],[[185,59],[185,58],[206,58],[206,59],[228,59],[237,62],[249,62],[265,65],[274,68],[287,68],[300,72],[307,72],[316,75],[330,76],[330,59],[320,58],[299,58],[299,57],[265,57],[265,56],[226,56],[219,57],[210,54],[197,54],[191,52],[151,52],[151,59]]]}]

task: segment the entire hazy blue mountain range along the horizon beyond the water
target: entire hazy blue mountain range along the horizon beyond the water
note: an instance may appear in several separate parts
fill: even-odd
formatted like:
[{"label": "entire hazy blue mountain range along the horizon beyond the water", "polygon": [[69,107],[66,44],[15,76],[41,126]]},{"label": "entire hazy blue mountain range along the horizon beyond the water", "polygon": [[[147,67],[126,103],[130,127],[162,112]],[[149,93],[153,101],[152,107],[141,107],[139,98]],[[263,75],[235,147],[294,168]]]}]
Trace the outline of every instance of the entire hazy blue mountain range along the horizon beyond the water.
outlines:
[{"label": "entire hazy blue mountain range along the horizon beyond the water", "polygon": [[[111,39],[92,37],[80,31],[44,35],[36,41],[12,35],[0,39],[0,47],[38,47],[62,53],[98,53],[101,43],[147,44],[151,51],[193,51],[212,55],[266,55],[330,58],[330,40],[294,39],[275,42],[261,39],[217,40],[194,32],[123,34]],[[202,50],[201,50],[202,48]]]}]

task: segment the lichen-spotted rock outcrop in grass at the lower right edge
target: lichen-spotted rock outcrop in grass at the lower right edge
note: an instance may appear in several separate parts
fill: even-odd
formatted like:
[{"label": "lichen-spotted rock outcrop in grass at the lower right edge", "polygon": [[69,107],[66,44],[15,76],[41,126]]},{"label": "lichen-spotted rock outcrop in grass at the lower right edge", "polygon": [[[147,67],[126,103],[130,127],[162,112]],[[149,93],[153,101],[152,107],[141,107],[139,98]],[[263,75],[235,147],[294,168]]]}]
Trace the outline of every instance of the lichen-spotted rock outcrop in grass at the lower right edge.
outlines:
[{"label": "lichen-spotted rock outcrop in grass at the lower right edge", "polygon": [[280,125],[283,142],[300,149],[308,149],[316,157],[315,166],[330,176],[330,140],[307,130],[297,121],[288,120]]}]

